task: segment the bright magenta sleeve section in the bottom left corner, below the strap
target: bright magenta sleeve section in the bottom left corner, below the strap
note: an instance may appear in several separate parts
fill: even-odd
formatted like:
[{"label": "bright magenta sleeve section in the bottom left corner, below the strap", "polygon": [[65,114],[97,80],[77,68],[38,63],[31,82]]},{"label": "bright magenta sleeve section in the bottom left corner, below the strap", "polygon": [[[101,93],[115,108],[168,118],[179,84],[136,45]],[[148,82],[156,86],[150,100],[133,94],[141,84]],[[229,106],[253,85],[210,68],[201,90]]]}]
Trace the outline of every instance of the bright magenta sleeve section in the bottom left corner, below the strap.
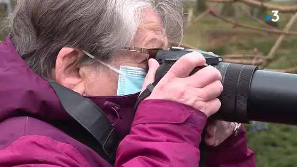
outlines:
[{"label": "bright magenta sleeve section in the bottom left corner, below the strap", "polygon": [[1,167],[90,167],[73,146],[46,136],[22,136],[0,150]]}]

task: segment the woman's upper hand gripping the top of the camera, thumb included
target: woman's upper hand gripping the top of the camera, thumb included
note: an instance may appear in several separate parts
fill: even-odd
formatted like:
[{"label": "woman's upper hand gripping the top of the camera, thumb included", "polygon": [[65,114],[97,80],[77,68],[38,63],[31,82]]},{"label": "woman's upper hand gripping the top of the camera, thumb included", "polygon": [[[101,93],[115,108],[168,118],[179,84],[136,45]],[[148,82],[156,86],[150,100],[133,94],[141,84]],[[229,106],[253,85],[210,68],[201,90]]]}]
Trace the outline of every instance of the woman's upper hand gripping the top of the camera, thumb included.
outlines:
[{"label": "woman's upper hand gripping the top of the camera, thumb included", "polygon": [[[210,117],[221,107],[221,102],[217,98],[223,91],[221,73],[214,67],[207,66],[189,76],[195,67],[205,63],[205,58],[198,52],[182,56],[154,86],[147,99],[179,102],[192,106]],[[159,63],[155,59],[149,59],[148,66],[148,74],[142,90],[154,82]]]}]

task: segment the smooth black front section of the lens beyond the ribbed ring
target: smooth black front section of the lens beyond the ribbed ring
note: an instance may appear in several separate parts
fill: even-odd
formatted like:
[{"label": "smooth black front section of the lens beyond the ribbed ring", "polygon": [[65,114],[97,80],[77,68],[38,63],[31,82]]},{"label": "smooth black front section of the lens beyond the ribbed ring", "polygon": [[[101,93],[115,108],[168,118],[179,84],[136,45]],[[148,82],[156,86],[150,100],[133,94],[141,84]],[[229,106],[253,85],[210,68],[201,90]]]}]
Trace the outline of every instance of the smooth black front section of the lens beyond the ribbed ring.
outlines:
[{"label": "smooth black front section of the lens beyond the ribbed ring", "polygon": [[297,74],[256,70],[247,113],[253,121],[297,125]]}]

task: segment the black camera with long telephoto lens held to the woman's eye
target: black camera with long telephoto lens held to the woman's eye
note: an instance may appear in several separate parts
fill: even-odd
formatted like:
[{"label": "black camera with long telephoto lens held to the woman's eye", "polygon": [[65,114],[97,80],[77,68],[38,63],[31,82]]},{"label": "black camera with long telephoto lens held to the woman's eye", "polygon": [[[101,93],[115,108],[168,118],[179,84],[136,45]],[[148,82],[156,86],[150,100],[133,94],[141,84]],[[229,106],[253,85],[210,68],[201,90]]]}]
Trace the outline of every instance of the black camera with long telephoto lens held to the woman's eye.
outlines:
[{"label": "black camera with long telephoto lens held to the woman's eye", "polygon": [[[206,66],[212,65],[222,74],[224,89],[218,97],[221,108],[212,119],[297,125],[297,74],[259,70],[255,65],[225,63],[221,56],[209,52],[171,47],[156,53],[155,59],[160,64],[156,78],[163,77],[178,59],[191,52],[201,53]],[[196,67],[190,75],[203,67]]]}]

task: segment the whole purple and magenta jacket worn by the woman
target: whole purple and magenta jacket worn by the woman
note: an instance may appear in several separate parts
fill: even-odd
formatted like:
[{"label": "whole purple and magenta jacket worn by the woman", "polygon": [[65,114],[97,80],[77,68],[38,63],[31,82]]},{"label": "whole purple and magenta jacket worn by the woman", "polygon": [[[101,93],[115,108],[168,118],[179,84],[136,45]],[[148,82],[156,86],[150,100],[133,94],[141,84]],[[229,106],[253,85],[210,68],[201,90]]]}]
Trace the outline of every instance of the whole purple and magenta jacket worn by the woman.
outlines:
[{"label": "whole purple and magenta jacket worn by the woman", "polygon": [[[115,167],[198,167],[207,117],[184,104],[147,100],[133,120],[137,96],[87,97],[112,123],[117,116],[105,102],[119,106],[115,128],[123,140]],[[73,124],[54,90],[21,59],[8,36],[0,42],[0,167],[111,167],[95,151],[41,120]],[[210,148],[207,167],[255,167],[243,128]]]}]

